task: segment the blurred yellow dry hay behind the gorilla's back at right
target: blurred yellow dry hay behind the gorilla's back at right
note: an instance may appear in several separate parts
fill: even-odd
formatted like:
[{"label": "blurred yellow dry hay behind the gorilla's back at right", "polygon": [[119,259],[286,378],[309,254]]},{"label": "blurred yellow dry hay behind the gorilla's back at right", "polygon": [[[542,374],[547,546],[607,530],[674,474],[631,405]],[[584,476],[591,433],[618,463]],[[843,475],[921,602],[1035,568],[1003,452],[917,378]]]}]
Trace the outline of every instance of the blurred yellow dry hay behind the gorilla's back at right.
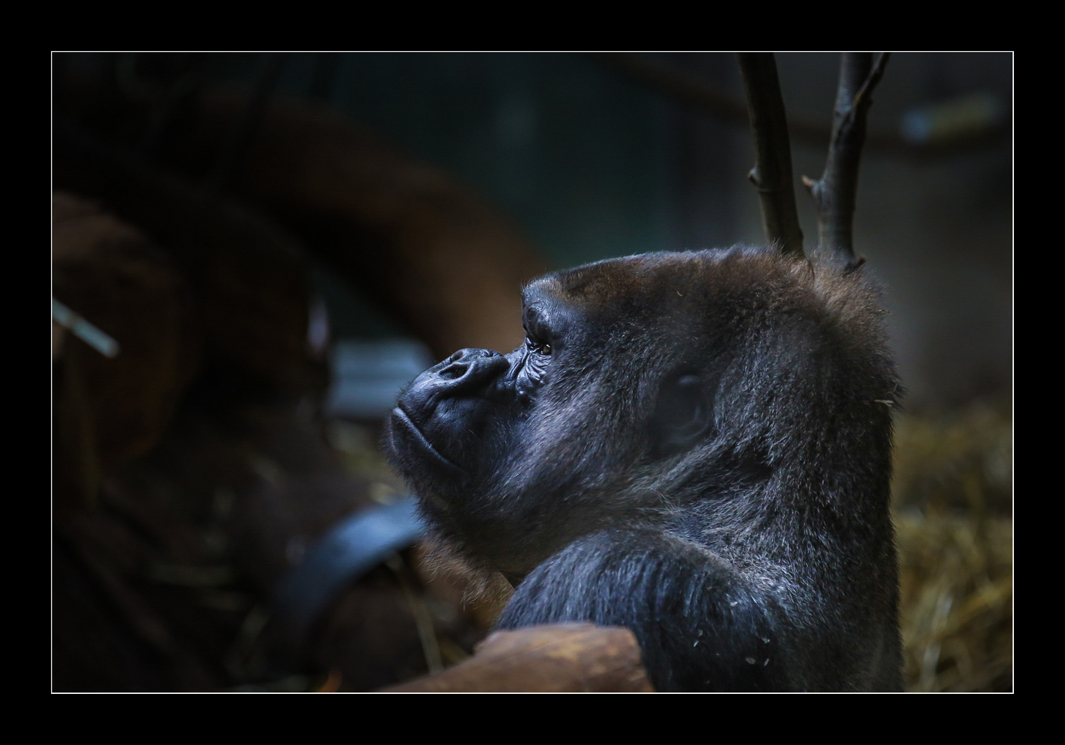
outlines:
[{"label": "blurred yellow dry hay behind the gorilla's back at right", "polygon": [[1012,451],[1009,410],[899,419],[894,496],[911,691],[1013,690]]}]

